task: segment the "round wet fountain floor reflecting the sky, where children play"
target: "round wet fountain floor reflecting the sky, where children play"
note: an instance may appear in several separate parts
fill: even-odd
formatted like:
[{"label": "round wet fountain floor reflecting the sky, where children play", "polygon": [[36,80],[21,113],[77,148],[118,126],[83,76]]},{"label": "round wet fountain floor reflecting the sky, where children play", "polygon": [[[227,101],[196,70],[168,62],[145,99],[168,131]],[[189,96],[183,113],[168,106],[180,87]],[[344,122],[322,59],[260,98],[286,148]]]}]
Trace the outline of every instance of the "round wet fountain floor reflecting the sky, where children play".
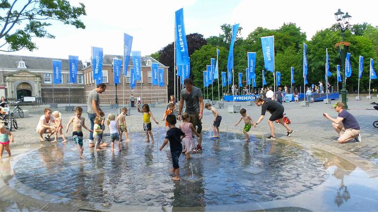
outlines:
[{"label": "round wet fountain floor reflecting the sky, where children play", "polygon": [[343,167],[346,163],[337,158],[323,165],[319,157],[298,147],[256,137],[244,142],[234,133],[221,133],[221,139],[212,140],[205,132],[203,152],[190,160],[182,155],[181,181],[172,182],[169,148],[158,151],[164,135],[162,129],[156,130],[156,142],[150,144],[143,142],[142,133],[134,133],[131,142],[123,142],[122,152],[117,147],[115,153],[110,148],[95,152],[85,147],[84,160],[78,159],[72,141],[44,143],[19,159],[13,177],[3,181],[25,195],[32,196],[31,188],[101,204],[102,209],[122,204],[205,210],[295,197],[323,184],[329,178],[327,171],[337,166],[330,174],[341,185],[331,192],[336,192],[331,205],[340,207],[350,199],[344,179],[355,166]]}]

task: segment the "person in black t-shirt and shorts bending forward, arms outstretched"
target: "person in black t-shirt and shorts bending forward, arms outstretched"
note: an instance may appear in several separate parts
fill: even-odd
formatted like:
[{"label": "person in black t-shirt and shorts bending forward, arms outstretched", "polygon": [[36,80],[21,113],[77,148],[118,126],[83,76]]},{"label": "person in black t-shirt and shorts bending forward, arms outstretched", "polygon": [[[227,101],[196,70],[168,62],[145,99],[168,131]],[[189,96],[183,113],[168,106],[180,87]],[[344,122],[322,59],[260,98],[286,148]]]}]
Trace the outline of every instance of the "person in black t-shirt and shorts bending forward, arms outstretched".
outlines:
[{"label": "person in black t-shirt and shorts bending forward, arms outstretched", "polygon": [[278,120],[278,122],[280,124],[282,124],[282,126],[284,126],[284,128],[286,128],[286,130],[287,130],[286,136],[287,137],[290,136],[291,133],[293,133],[293,131],[289,128],[289,126],[284,122],[284,119],[283,119],[284,118],[284,106],[283,105],[281,105],[280,103],[278,103],[276,101],[272,101],[272,100],[268,100],[268,99],[261,99],[261,98],[257,98],[255,102],[256,102],[257,106],[261,106],[261,116],[256,121],[256,123],[253,124],[254,127],[256,127],[264,119],[264,116],[265,116],[265,113],[266,113],[267,110],[272,114],[270,116],[269,120],[268,120],[268,124],[269,124],[271,134],[266,139],[268,139],[268,140],[269,139],[276,139],[276,135],[274,133],[274,125],[273,125],[273,123],[276,120]]}]

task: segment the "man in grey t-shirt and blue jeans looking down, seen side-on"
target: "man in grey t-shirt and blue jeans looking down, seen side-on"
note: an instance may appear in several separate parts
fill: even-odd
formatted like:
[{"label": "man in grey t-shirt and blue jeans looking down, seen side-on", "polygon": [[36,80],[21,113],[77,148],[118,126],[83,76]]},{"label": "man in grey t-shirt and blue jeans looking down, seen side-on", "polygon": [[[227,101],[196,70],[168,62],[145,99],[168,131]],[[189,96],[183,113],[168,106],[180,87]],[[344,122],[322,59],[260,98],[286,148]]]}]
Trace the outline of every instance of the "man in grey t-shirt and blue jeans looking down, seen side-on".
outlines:
[{"label": "man in grey t-shirt and blue jeans looking down, seen side-on", "polygon": [[[106,90],[106,84],[104,83],[99,83],[95,89],[93,89],[91,92],[88,94],[88,102],[87,102],[87,113],[88,113],[88,118],[91,122],[91,130],[93,131],[93,127],[95,126],[95,118],[96,116],[101,116],[103,117],[105,113],[102,111],[100,108],[100,98],[98,97],[99,93],[102,93]],[[89,133],[89,143],[90,147],[93,144],[93,132]]]}]

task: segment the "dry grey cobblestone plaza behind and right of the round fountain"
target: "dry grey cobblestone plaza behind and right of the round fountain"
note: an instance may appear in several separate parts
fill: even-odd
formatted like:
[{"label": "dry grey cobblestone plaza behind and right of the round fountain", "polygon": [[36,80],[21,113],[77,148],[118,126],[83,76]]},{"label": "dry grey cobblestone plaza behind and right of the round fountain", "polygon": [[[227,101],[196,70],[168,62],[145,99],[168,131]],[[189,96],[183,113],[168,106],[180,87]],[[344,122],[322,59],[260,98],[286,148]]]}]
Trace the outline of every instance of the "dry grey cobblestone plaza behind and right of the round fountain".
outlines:
[{"label": "dry grey cobblestone plaza behind and right of the round fountain", "polygon": [[[309,107],[300,106],[298,103],[284,103],[285,113],[290,118],[291,124],[290,127],[294,130],[294,133],[288,140],[300,142],[304,144],[324,144],[328,146],[333,146],[343,150],[347,150],[351,153],[354,153],[362,158],[366,158],[378,164],[378,128],[373,127],[373,122],[377,120],[378,111],[374,110],[373,106],[370,105],[371,102],[378,101],[378,99],[373,100],[362,100],[355,101],[354,97],[349,97],[352,99],[348,102],[349,112],[352,113],[358,120],[361,126],[361,143],[347,143],[339,144],[335,143],[332,140],[337,138],[336,132],[333,131],[331,127],[331,122],[323,118],[322,113],[327,112],[332,116],[336,117],[337,113],[334,111],[331,105],[323,104],[323,102],[317,102],[310,104]],[[337,102],[336,100],[332,101],[332,104]],[[247,112],[252,116],[253,120],[256,121],[260,116],[261,109],[257,106],[250,106],[247,102],[235,102],[236,105],[241,105],[247,109]],[[224,108],[220,108],[219,112],[222,116],[221,131],[233,131],[237,130],[242,132],[243,124],[239,124],[237,128],[230,127],[234,124],[240,117],[239,113],[229,113],[227,112],[227,106],[232,105],[232,102],[225,102]],[[63,126],[68,121],[68,119],[73,116],[73,112],[65,112],[64,105],[59,105],[58,108],[62,112],[63,116]],[[77,105],[75,105],[77,106]],[[83,105],[81,105],[83,106]],[[32,108],[31,106],[23,106],[24,110],[29,110],[29,117],[24,119],[18,119],[18,130],[12,130],[12,133],[15,136],[14,145],[25,145],[31,143],[39,143],[38,134],[35,132],[35,127],[38,123],[39,117],[43,114],[43,109],[45,106],[39,106]],[[47,106],[46,106],[47,107]],[[118,109],[110,109],[110,106],[103,105],[101,106],[105,113],[118,113]],[[86,107],[83,107],[86,110]],[[54,110],[54,109],[53,109]],[[151,110],[154,116],[159,121],[159,126],[164,126],[164,121],[161,121],[161,118],[164,114],[165,105],[160,105],[157,107],[151,107]],[[88,116],[84,111],[83,116],[86,118],[87,126],[90,125]],[[203,117],[203,126],[204,130],[208,131],[211,128],[212,120],[214,116],[205,109]],[[130,116],[127,116],[126,123],[129,131],[132,132],[141,132],[142,128],[142,114],[138,113],[136,107],[131,108]],[[269,134],[269,128],[267,124],[268,117],[266,117],[261,124],[256,128],[251,129],[252,134],[264,134],[267,136]],[[227,124],[227,129],[225,124]],[[153,123],[153,128],[157,127]],[[279,124],[276,125],[276,136],[285,137],[285,129]],[[105,133],[108,132],[108,129],[105,130]],[[68,136],[68,139],[71,139],[70,133],[65,133]],[[84,132],[84,137],[88,138],[89,133]],[[286,137],[285,137],[286,138]],[[143,137],[141,139],[144,139]],[[61,141],[62,138],[59,138]],[[203,144],[206,148],[206,142]]]}]

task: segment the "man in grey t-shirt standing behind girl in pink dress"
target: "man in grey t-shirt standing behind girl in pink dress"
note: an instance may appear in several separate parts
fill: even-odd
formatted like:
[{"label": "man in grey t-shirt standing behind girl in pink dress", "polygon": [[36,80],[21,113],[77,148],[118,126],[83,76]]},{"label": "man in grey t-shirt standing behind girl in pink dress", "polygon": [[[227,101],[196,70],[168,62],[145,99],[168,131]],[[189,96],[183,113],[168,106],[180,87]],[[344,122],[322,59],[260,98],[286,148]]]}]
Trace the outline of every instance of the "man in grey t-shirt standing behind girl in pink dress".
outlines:
[{"label": "man in grey t-shirt standing behind girl in pink dress", "polygon": [[[179,103],[179,115],[177,116],[181,120],[181,111],[183,110],[184,100],[185,100],[185,112],[190,116],[190,122],[194,127],[197,127],[197,132],[201,135],[197,138],[197,151],[202,150],[202,114],[203,114],[203,97],[201,89],[193,86],[193,80],[187,78],[184,80],[185,88],[180,92],[180,103]],[[190,150],[187,150],[190,151]]]}]

